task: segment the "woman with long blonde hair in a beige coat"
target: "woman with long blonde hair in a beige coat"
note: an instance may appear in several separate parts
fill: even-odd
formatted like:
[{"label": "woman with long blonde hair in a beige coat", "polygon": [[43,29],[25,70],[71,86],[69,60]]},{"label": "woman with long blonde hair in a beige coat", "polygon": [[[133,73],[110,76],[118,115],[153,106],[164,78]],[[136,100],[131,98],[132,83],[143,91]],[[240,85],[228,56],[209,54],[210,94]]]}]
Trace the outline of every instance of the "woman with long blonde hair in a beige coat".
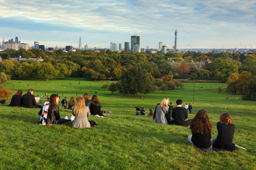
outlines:
[{"label": "woman with long blonde hair in a beige coat", "polygon": [[81,96],[76,98],[75,106],[73,108],[73,115],[75,120],[73,122],[73,128],[91,128],[90,123],[87,119],[90,115],[88,106],[85,106],[85,99]]}]

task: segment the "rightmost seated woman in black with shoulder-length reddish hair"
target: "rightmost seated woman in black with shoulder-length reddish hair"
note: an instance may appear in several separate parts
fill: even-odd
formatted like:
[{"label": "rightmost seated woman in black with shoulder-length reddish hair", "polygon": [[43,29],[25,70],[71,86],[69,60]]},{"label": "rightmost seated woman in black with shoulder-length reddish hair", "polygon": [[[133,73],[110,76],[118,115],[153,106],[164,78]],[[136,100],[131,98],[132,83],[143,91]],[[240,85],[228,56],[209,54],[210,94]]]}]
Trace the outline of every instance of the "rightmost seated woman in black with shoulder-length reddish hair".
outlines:
[{"label": "rightmost seated woman in black with shoulder-length reddish hair", "polygon": [[213,144],[215,149],[227,150],[233,152],[235,145],[233,144],[233,135],[235,132],[235,123],[231,115],[222,113],[220,121],[217,123],[218,136]]}]

